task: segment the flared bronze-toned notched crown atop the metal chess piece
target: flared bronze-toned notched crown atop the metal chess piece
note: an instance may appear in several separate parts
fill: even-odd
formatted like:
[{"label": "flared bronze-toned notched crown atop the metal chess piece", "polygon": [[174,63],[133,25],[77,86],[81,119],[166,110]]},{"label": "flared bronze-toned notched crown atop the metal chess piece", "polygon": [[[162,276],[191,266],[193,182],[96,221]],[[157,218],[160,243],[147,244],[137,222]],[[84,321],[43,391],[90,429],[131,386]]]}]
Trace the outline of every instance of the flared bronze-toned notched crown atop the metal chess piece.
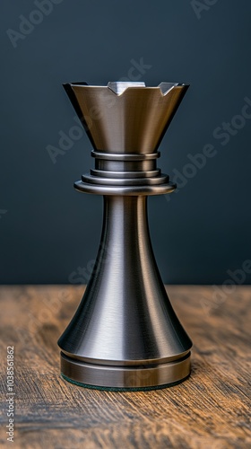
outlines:
[{"label": "flared bronze-toned notched crown atop the metal chess piece", "polygon": [[[164,84],[162,84],[164,85]],[[107,86],[65,84],[95,150],[148,154],[157,151],[188,88],[171,84],[130,86],[117,94]]]}]

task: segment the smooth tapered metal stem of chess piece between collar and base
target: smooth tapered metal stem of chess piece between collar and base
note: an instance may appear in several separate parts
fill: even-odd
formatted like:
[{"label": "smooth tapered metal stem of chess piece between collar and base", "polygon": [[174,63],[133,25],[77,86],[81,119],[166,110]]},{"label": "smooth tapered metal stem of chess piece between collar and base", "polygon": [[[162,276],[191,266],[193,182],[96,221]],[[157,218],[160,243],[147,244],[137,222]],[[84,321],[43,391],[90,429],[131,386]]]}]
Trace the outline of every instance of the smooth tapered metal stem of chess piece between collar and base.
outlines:
[{"label": "smooth tapered metal stem of chess piece between collar and base", "polygon": [[146,205],[146,196],[104,197],[96,265],[58,341],[67,356],[99,365],[160,365],[189,352],[191,340],[154,259]]}]

